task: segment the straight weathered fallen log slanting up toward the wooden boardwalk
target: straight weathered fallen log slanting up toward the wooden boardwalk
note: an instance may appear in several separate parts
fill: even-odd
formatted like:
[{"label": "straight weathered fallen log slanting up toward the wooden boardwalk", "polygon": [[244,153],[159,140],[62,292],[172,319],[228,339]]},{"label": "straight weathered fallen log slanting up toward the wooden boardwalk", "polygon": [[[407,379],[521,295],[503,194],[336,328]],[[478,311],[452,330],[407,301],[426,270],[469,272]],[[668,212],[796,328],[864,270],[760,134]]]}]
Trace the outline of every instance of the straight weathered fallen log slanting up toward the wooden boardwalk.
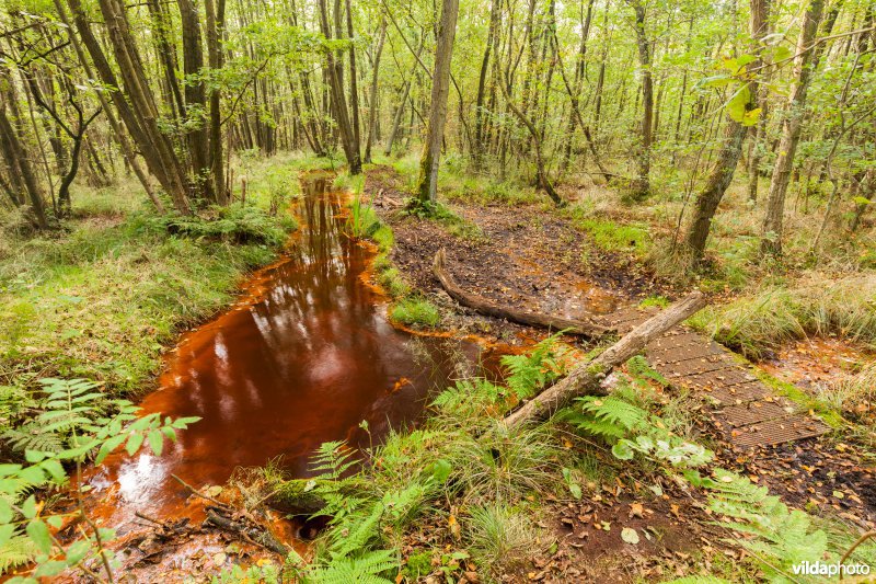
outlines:
[{"label": "straight weathered fallen log slanting up toward the wooden boardwalk", "polygon": [[623,339],[603,351],[597,358],[579,365],[563,380],[545,389],[519,410],[505,417],[509,427],[519,426],[529,421],[546,420],[557,410],[565,408],[572,400],[587,394],[603,393],[600,381],[612,368],[626,363],[654,339],[661,336],[669,329],[687,320],[705,306],[705,297],[701,291],[693,291],[646,320]]}]

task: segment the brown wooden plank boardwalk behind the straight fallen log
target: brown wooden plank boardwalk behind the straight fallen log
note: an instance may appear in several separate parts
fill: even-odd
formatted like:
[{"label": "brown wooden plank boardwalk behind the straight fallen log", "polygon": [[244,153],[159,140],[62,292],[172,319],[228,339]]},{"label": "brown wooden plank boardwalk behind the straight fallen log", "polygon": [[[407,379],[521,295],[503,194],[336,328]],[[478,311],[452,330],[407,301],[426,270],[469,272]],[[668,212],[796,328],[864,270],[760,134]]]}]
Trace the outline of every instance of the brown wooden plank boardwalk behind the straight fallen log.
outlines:
[{"label": "brown wooden plank boardwalk behind the straight fallen log", "polygon": [[[656,309],[624,308],[602,318],[619,334]],[[802,412],[751,375],[733,353],[687,327],[677,327],[645,347],[648,363],[677,387],[701,397],[715,425],[735,446],[752,448],[820,436],[830,426]]]}]

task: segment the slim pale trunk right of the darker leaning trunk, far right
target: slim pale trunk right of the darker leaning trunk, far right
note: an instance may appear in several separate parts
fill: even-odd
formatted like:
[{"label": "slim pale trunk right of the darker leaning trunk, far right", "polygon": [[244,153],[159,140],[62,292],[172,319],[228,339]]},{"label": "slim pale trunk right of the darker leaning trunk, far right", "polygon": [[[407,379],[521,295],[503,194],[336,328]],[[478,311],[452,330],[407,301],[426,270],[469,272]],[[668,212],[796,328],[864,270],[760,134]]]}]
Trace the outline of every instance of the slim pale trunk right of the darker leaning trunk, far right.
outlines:
[{"label": "slim pale trunk right of the darker leaning trunk, far right", "polygon": [[797,41],[795,58],[795,82],[788,100],[787,111],[782,121],[782,139],[779,144],[779,156],[773,167],[770,192],[766,199],[766,215],[763,218],[761,253],[777,256],[782,254],[782,228],[785,211],[785,195],[794,168],[794,154],[803,129],[803,116],[806,113],[806,92],[809,89],[812,70],[811,44],[818,33],[825,0],[811,0],[803,19],[800,36]]}]

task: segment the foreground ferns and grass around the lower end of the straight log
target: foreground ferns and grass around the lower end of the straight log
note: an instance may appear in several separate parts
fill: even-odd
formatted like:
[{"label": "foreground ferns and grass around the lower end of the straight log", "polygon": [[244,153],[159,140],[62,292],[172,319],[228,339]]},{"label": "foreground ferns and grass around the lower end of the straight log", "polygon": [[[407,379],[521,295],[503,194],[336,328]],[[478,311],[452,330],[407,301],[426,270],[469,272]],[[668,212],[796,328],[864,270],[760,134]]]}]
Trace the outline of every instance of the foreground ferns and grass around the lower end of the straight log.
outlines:
[{"label": "foreground ferns and grass around the lower end of the straight log", "polygon": [[[792,509],[765,488],[715,467],[692,424],[667,400],[667,380],[642,357],[614,374],[611,394],[579,399],[548,423],[512,428],[504,415],[573,363],[554,336],[503,365],[502,382],[461,379],[440,393],[416,430],[392,432],[358,453],[345,443],[324,444],[313,478],[263,471],[263,490],[275,504],[328,517],[313,558],[295,556],[289,575],[313,583],[457,580],[466,572],[507,579],[556,545],[533,520],[548,497],[583,499],[610,477],[599,474],[606,462],[587,454],[592,448],[610,451],[638,480],[660,472],[704,490],[724,543],[745,549],[747,560],[688,581],[745,573],[785,582],[794,563],[835,559],[856,537],[850,526]],[[580,436],[577,445],[569,427]],[[874,548],[862,546],[852,559],[872,563]]]}]

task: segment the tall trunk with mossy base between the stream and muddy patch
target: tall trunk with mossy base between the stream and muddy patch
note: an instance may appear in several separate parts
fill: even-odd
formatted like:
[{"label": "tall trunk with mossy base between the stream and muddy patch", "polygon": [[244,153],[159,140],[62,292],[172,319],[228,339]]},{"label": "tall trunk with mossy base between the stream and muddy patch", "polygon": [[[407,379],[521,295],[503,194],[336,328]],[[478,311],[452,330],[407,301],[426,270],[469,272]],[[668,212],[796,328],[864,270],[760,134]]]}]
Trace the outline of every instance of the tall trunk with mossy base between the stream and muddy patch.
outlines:
[{"label": "tall trunk with mossy base between the stream and muddy patch", "polygon": [[447,98],[450,93],[450,61],[453,55],[453,39],[457,35],[459,0],[442,0],[441,20],[438,23],[438,43],[435,48],[435,72],[431,77],[431,104],[426,140],[419,159],[417,197],[419,204],[431,206],[438,194],[438,164],[441,158],[441,144],[445,137],[447,118]]}]

